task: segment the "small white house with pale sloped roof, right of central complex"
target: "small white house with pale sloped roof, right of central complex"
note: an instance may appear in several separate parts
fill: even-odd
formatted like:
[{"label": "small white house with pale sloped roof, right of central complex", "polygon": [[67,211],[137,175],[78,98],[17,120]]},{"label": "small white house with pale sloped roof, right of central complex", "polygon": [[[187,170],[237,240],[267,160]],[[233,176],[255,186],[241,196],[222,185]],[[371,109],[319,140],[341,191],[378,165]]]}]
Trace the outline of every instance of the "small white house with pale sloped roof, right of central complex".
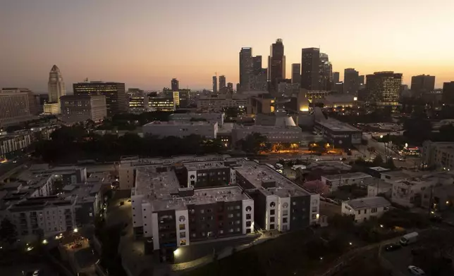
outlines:
[{"label": "small white house with pale sloped roof, right of central complex", "polygon": [[373,196],[343,201],[341,212],[343,215],[354,216],[355,222],[361,223],[381,217],[389,207],[391,207],[391,203],[384,197]]}]

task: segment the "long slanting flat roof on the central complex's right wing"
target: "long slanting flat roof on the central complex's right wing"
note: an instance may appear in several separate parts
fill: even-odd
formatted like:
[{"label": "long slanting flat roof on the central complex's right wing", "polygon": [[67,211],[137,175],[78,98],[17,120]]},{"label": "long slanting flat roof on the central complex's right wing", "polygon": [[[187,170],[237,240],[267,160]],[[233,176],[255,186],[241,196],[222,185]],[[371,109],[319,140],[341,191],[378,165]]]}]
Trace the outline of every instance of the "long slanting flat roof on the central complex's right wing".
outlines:
[{"label": "long slanting flat roof on the central complex's right wing", "polygon": [[[240,161],[240,164],[241,166],[235,168],[235,170],[267,196],[271,194],[276,194],[279,197],[310,195],[309,192],[302,189],[298,184],[276,172],[276,170],[269,168],[267,165],[259,165],[254,161],[246,160]],[[264,188],[262,187],[263,181],[275,181],[276,187]]]}]

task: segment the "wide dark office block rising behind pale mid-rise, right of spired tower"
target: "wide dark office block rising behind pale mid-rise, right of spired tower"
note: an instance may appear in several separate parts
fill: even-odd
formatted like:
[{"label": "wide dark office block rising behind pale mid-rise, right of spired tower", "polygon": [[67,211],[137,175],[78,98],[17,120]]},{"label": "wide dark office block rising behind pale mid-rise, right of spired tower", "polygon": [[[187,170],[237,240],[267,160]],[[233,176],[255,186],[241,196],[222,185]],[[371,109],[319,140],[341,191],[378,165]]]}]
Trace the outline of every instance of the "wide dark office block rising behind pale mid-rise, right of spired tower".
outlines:
[{"label": "wide dark office block rising behind pale mid-rise, right of spired tower", "polygon": [[128,99],[123,82],[78,82],[73,84],[75,95],[106,96],[107,116],[128,112]]}]

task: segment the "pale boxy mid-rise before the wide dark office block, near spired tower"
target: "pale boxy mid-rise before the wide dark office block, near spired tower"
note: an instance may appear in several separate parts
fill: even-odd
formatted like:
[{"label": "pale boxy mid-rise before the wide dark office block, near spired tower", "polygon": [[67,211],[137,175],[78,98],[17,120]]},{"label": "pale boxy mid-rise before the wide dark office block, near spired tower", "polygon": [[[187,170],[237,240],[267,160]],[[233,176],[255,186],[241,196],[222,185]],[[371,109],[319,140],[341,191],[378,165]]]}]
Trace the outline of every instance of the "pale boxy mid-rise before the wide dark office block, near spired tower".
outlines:
[{"label": "pale boxy mid-rise before the wide dark office block, near spired tower", "polygon": [[61,96],[60,99],[63,122],[99,122],[107,117],[106,96],[81,94]]}]

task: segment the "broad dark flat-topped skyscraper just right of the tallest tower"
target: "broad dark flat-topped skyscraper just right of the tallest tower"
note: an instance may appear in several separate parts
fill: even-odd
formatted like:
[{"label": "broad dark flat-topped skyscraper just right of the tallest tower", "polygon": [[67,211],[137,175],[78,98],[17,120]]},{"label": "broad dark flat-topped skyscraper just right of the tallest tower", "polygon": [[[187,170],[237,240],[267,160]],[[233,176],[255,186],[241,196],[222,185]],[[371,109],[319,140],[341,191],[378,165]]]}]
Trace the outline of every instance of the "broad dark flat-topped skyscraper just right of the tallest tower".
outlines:
[{"label": "broad dark flat-topped skyscraper just right of the tallest tower", "polygon": [[319,90],[320,49],[301,49],[301,88]]}]

